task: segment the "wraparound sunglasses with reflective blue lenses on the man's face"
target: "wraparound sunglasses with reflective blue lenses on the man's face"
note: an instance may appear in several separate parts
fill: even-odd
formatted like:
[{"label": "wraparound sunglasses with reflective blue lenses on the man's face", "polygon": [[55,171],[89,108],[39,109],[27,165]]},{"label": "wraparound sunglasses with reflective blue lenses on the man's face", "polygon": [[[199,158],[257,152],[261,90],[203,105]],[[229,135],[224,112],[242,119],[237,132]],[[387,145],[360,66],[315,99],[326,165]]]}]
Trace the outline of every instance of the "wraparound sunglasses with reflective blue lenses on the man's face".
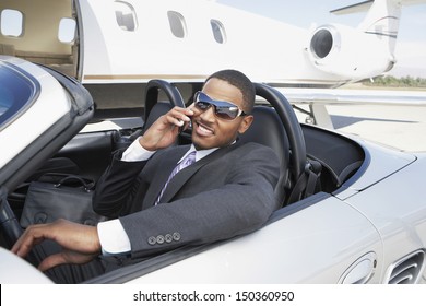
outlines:
[{"label": "wraparound sunglasses with reflective blue lenses on the man's face", "polygon": [[197,92],[193,96],[193,103],[201,111],[208,110],[212,105],[214,106],[214,115],[224,120],[234,120],[239,116],[247,114],[239,109],[238,106],[226,101],[212,99],[203,92]]}]

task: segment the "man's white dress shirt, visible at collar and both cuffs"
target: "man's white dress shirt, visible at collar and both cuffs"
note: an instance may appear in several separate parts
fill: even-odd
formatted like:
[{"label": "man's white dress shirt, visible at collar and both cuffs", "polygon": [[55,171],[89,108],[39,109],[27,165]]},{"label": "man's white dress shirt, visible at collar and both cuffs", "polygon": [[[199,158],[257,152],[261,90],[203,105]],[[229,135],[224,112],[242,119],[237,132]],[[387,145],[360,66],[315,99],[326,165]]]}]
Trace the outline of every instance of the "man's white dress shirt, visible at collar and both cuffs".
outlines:
[{"label": "man's white dress shirt, visible at collar and both cuffs", "polygon": [[[209,150],[196,151],[193,144],[188,152],[179,160],[184,160],[190,152],[196,151],[196,162],[208,156],[210,153],[217,150],[217,148]],[[122,153],[121,161],[123,162],[139,162],[149,160],[155,151],[147,151],[139,143],[139,139]],[[104,255],[120,255],[127,254],[131,250],[130,239],[126,234],[121,222],[118,219],[99,222],[97,224],[97,234]]]}]

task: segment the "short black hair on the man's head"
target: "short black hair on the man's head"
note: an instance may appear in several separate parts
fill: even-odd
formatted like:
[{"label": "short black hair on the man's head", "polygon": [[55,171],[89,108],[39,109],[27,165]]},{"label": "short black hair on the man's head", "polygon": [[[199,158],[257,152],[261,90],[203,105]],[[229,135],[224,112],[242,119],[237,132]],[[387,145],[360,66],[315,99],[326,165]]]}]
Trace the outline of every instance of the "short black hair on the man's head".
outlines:
[{"label": "short black hair on the man's head", "polygon": [[238,70],[225,69],[220,70],[211,74],[204,82],[204,84],[210,79],[218,79],[229,83],[230,85],[237,87],[242,94],[244,110],[247,114],[251,114],[251,110],[255,107],[256,90],[253,83],[250,79]]}]

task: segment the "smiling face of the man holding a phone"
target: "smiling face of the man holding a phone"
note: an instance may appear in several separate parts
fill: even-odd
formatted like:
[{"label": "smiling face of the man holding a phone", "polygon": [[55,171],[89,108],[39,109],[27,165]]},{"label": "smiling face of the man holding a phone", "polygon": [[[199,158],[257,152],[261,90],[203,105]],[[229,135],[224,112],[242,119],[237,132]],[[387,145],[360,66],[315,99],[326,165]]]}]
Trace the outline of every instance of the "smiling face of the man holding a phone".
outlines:
[{"label": "smiling face of the man holding a phone", "polygon": [[[210,79],[202,90],[212,99],[226,101],[242,108],[241,92],[218,79]],[[214,107],[201,111],[197,107],[191,108],[192,116],[192,143],[197,149],[222,148],[229,145],[237,138],[238,133],[244,133],[252,121],[252,116],[237,117],[234,120],[224,120],[214,115]],[[247,110],[246,110],[247,111]]]}]

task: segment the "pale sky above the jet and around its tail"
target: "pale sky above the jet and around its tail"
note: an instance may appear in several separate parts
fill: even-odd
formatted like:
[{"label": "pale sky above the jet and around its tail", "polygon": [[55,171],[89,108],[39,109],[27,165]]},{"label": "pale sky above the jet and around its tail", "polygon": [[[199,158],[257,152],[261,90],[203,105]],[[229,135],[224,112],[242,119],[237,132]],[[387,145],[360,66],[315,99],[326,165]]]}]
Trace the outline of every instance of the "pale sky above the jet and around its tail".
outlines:
[{"label": "pale sky above the jet and around its tail", "polygon": [[[333,15],[331,10],[362,0],[217,0],[228,4],[309,28],[312,23],[342,23],[356,26],[365,13]],[[426,4],[404,7],[395,48],[397,64],[390,74],[426,78]]]}]

